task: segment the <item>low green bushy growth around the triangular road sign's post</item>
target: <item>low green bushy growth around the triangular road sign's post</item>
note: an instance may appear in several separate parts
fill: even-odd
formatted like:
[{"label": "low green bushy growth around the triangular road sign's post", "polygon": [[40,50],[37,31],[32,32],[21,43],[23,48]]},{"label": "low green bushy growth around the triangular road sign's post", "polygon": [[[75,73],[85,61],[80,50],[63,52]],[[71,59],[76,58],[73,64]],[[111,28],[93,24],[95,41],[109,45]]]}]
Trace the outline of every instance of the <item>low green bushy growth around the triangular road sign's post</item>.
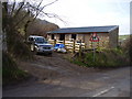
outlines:
[{"label": "low green bushy growth around the triangular road sign's post", "polygon": [[118,67],[129,65],[129,62],[127,61],[121,48],[102,50],[101,52],[96,52],[95,62],[94,53],[88,52],[85,53],[84,58],[80,59],[79,56],[76,56],[72,59],[72,63],[86,67]]}]

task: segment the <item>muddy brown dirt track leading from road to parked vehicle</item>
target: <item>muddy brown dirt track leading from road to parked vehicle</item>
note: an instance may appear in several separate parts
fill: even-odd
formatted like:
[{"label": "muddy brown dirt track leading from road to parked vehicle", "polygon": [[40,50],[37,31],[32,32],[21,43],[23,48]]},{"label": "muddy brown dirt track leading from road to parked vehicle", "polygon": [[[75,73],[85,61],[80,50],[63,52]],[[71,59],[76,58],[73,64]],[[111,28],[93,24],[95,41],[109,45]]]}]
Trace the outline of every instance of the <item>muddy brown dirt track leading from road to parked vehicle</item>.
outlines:
[{"label": "muddy brown dirt track leading from road to parked vehicle", "polygon": [[[69,63],[64,58],[66,54],[54,53],[48,55],[35,55],[35,59],[31,62],[22,62],[22,69],[28,70],[38,79],[56,78],[61,76],[74,76],[79,74],[88,74],[89,72],[98,72],[99,69],[80,67]],[[100,70],[99,70],[100,72]]]}]

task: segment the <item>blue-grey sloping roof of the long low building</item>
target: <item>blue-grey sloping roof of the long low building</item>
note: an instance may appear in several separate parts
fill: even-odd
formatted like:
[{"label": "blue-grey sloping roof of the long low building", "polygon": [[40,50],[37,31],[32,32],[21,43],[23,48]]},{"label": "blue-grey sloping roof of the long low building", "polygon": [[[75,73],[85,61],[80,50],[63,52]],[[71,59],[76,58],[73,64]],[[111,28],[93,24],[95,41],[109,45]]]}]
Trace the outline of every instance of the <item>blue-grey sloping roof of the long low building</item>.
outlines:
[{"label": "blue-grey sloping roof of the long low building", "polygon": [[118,25],[109,26],[85,26],[85,28],[65,28],[57,29],[56,31],[50,31],[47,33],[90,33],[90,32],[111,32],[119,28]]}]

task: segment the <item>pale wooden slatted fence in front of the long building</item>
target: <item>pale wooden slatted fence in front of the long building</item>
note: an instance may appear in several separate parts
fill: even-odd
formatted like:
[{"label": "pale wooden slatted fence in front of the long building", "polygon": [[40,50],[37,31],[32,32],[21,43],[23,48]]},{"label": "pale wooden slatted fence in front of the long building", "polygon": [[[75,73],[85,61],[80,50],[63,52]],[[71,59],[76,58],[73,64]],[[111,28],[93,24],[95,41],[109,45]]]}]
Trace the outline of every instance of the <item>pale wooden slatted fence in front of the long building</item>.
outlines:
[{"label": "pale wooden slatted fence in front of the long building", "polygon": [[48,40],[48,42],[53,45],[55,44],[64,44],[66,50],[69,52],[79,52],[86,48],[86,44],[81,41],[78,43],[77,41],[58,41],[58,40]]}]

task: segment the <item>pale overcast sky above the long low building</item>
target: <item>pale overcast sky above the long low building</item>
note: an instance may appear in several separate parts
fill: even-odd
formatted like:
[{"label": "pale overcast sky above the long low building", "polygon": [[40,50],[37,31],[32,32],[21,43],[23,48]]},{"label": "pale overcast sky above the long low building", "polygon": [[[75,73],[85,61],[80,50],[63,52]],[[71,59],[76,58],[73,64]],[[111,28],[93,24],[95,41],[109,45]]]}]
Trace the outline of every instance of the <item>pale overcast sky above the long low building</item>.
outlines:
[{"label": "pale overcast sky above the long low building", "polygon": [[56,13],[66,24],[57,19],[42,19],[56,23],[59,28],[119,25],[120,35],[130,34],[130,2],[131,0],[58,0],[44,11]]}]

